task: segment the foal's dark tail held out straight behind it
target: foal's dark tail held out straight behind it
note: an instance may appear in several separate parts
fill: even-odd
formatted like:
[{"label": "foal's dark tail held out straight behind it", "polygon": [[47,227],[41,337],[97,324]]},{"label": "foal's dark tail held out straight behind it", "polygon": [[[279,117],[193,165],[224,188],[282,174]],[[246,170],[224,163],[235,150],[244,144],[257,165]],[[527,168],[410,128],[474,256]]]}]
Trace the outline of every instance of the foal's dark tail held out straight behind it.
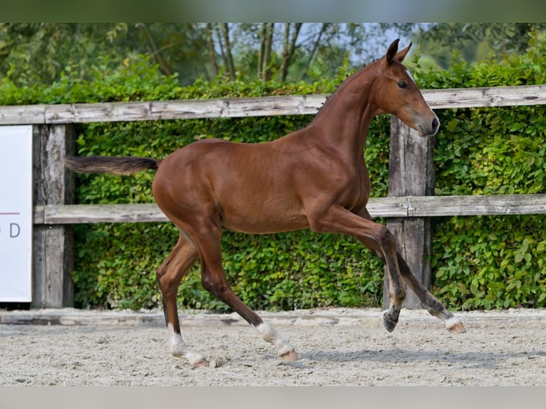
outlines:
[{"label": "foal's dark tail held out straight behind it", "polygon": [[151,157],[65,156],[64,164],[78,173],[133,175],[139,170],[158,170],[161,160]]}]

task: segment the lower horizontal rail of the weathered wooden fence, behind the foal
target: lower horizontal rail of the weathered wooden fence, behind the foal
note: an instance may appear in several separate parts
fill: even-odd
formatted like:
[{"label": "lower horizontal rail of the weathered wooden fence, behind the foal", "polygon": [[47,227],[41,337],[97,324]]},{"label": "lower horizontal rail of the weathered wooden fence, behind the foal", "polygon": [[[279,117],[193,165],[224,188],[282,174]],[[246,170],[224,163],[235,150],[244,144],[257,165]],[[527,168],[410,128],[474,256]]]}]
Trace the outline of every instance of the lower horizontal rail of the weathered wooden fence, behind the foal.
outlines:
[{"label": "lower horizontal rail of the weathered wooden fence, behind the foal", "polygon": [[[368,210],[371,217],[546,214],[546,195],[372,197]],[[167,221],[154,203],[34,206],[34,224]]]}]

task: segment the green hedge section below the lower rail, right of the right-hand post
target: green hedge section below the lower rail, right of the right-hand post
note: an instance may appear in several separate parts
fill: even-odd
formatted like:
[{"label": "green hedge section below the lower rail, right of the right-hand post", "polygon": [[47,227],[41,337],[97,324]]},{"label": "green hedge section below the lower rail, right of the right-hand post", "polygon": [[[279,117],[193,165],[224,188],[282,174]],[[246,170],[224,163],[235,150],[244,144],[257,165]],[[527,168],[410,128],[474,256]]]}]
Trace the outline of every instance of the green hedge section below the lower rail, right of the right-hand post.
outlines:
[{"label": "green hedge section below the lower rail, right of the right-hand post", "polygon": [[461,309],[545,306],[545,227],[544,215],[438,222],[435,291]]}]

